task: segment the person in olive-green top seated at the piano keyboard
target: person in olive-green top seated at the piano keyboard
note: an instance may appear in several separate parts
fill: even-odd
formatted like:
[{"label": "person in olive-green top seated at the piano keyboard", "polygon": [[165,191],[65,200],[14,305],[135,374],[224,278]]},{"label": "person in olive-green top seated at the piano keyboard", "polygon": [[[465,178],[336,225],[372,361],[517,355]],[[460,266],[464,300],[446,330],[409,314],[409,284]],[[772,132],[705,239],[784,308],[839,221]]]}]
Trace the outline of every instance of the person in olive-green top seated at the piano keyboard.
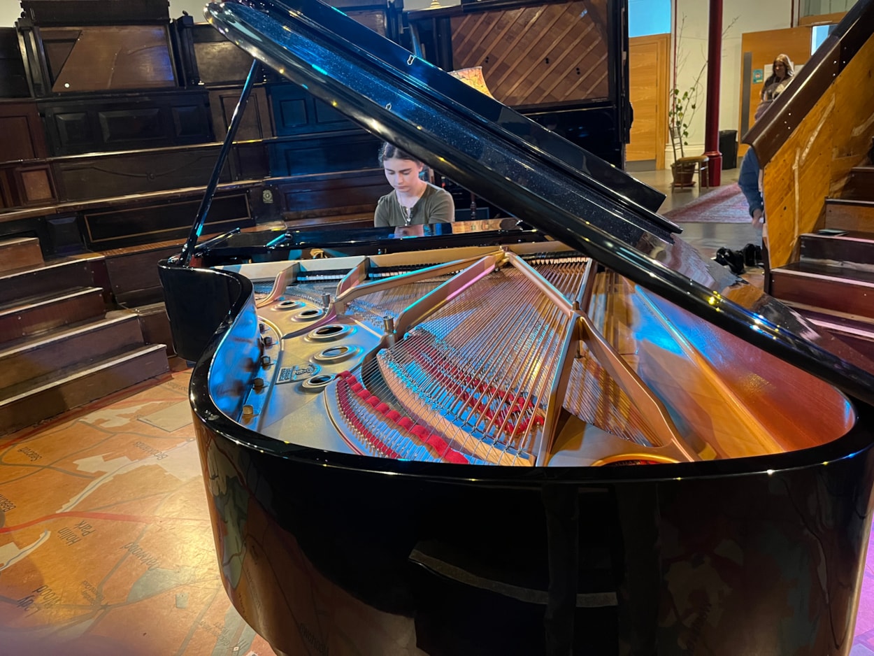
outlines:
[{"label": "person in olive-green top seated at the piano keyboard", "polygon": [[385,194],[373,214],[376,227],[394,226],[398,236],[423,234],[428,223],[455,220],[455,204],[445,189],[420,178],[425,164],[392,143],[379,149],[379,163],[394,191]]}]

